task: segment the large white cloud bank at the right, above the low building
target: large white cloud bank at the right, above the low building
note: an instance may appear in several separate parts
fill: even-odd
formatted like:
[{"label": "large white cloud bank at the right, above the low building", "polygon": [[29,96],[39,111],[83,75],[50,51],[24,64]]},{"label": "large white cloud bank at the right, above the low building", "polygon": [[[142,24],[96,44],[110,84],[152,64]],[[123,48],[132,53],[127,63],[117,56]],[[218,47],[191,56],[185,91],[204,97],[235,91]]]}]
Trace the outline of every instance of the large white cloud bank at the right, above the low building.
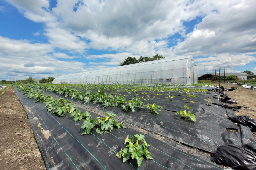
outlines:
[{"label": "large white cloud bank at the right, above the low building", "polygon": [[[202,22],[175,46],[180,54],[252,54],[256,52],[256,18],[252,15],[256,1],[218,1],[209,6]],[[211,11],[209,11],[211,10]]]}]

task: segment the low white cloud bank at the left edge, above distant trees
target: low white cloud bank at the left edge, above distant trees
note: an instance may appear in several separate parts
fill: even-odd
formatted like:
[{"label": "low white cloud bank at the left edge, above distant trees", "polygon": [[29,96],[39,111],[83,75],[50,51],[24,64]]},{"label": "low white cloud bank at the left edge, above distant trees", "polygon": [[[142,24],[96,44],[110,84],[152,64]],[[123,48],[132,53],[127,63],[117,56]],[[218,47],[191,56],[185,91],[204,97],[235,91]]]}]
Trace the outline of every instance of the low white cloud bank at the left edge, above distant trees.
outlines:
[{"label": "low white cloud bank at the left edge, above distant trees", "polygon": [[42,74],[57,76],[58,72],[80,72],[84,69],[85,63],[58,60],[55,56],[66,58],[69,56],[62,53],[49,55],[48,53],[52,51],[49,44],[31,44],[27,40],[12,40],[0,36],[0,77],[23,74],[38,78]]}]

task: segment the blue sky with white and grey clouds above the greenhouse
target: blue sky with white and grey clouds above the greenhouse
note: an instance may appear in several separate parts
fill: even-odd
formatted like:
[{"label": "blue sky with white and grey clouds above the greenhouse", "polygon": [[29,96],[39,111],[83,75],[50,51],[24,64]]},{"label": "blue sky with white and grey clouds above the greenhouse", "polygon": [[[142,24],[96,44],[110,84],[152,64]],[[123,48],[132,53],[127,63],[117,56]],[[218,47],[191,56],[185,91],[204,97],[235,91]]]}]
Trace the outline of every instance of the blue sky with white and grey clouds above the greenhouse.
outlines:
[{"label": "blue sky with white and grey clouds above the greenhouse", "polygon": [[256,74],[255,0],[2,0],[0,80],[193,55],[198,74]]}]

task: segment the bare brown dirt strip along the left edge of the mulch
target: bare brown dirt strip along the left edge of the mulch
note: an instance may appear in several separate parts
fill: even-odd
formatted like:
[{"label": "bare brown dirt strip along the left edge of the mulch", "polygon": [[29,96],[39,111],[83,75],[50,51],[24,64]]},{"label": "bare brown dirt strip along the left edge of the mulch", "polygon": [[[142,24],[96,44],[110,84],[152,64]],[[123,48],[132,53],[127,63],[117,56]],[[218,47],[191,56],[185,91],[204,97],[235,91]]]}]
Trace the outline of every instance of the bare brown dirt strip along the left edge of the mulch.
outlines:
[{"label": "bare brown dirt strip along the left edge of the mulch", "polygon": [[0,97],[1,169],[46,169],[26,112],[14,87]]}]

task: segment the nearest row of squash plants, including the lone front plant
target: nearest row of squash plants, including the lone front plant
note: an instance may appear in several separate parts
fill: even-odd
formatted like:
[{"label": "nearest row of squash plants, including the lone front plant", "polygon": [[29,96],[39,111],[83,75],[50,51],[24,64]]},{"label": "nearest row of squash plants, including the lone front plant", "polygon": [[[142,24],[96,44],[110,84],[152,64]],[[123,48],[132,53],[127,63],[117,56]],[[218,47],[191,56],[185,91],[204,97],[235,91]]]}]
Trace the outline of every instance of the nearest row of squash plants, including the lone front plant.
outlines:
[{"label": "nearest row of squash plants, including the lone front plant", "polygon": [[[108,117],[96,117],[92,118],[88,111],[81,112],[75,105],[69,104],[71,103],[67,99],[59,98],[58,100],[54,100],[50,95],[44,94],[41,90],[34,90],[33,88],[25,87],[23,85],[18,86],[19,91],[23,91],[26,95],[25,98],[35,99],[35,103],[42,102],[44,103],[44,107],[47,107],[47,111],[53,111],[52,114],[57,114],[58,116],[65,116],[66,113],[70,113],[70,117],[74,117],[74,121],[85,119],[81,128],[83,129],[83,135],[90,134],[91,130],[97,126],[96,132],[99,134],[110,132],[113,130],[113,127],[117,128],[126,128],[123,126],[122,122],[117,123],[114,119],[116,114],[105,112]],[[68,104],[67,104],[68,103]],[[132,159],[137,160],[138,167],[141,166],[142,160],[144,159],[153,159],[151,153],[148,151],[146,147],[149,145],[144,138],[144,135],[137,134],[134,137],[130,137],[127,135],[124,144],[128,144],[124,147],[124,149],[118,151],[116,156],[118,158],[123,157],[123,162],[126,162],[130,157]]]}]

